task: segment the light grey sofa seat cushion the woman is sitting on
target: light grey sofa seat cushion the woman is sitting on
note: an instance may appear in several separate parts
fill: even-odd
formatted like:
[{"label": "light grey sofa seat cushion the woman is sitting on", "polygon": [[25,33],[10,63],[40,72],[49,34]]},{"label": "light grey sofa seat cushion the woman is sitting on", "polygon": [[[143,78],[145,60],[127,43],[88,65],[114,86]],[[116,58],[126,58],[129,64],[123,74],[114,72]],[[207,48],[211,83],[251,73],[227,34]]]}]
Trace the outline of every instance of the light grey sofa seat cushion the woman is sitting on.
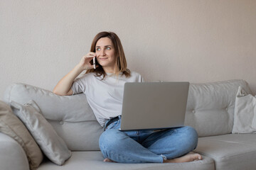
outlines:
[{"label": "light grey sofa seat cushion the woman is sitting on", "polygon": [[58,166],[50,161],[43,161],[38,170],[70,170],[70,169],[87,169],[87,170],[114,170],[114,169],[214,169],[213,159],[203,157],[203,160],[197,162],[188,162],[183,164],[119,164],[103,162],[103,156],[100,151],[72,152],[72,157],[68,159],[63,166]]}]

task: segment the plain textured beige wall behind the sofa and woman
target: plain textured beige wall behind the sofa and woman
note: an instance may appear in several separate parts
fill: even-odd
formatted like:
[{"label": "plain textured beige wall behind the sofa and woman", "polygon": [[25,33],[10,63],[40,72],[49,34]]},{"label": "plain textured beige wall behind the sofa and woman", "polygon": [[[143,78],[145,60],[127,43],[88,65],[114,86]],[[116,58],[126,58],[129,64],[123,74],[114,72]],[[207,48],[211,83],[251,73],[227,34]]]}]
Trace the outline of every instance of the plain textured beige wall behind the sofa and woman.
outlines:
[{"label": "plain textured beige wall behind the sofa and woman", "polygon": [[256,91],[256,1],[0,1],[0,99],[22,82],[53,90],[102,30],[146,81],[245,79]]}]

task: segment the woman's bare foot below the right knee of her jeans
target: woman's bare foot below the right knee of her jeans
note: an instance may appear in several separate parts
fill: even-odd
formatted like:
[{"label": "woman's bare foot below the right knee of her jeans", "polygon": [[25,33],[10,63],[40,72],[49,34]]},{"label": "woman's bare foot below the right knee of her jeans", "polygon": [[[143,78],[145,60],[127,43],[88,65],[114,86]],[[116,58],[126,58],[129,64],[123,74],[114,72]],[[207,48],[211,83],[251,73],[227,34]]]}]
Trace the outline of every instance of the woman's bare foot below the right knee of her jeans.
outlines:
[{"label": "woman's bare foot below the right knee of her jeans", "polygon": [[181,163],[181,162],[193,162],[193,161],[198,161],[201,160],[202,156],[201,154],[197,153],[188,153],[182,157],[178,157],[175,159],[167,159],[164,160],[164,163]]}]

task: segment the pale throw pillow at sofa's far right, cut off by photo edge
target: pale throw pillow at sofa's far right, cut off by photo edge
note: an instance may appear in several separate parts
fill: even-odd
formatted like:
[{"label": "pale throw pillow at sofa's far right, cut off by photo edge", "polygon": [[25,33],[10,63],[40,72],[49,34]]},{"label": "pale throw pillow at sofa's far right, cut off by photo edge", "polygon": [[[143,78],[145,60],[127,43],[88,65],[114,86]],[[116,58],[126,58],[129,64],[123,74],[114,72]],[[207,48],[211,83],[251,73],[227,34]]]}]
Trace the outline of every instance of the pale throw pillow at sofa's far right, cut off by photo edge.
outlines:
[{"label": "pale throw pillow at sofa's far right, cut off by photo edge", "polygon": [[256,96],[247,94],[239,86],[235,98],[234,125],[232,133],[256,132]]}]

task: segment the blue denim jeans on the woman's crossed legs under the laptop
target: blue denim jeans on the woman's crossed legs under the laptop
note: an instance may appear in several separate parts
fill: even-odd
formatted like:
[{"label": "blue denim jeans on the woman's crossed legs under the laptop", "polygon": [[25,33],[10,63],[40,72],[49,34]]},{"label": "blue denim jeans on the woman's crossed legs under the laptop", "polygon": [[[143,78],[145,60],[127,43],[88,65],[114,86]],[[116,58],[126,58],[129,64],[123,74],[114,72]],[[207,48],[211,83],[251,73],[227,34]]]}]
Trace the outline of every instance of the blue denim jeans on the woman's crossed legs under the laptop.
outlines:
[{"label": "blue denim jeans on the woman's crossed legs under the laptop", "polygon": [[121,119],[107,126],[100,136],[105,158],[120,163],[162,163],[196,149],[198,134],[189,126],[156,130],[119,131]]}]

